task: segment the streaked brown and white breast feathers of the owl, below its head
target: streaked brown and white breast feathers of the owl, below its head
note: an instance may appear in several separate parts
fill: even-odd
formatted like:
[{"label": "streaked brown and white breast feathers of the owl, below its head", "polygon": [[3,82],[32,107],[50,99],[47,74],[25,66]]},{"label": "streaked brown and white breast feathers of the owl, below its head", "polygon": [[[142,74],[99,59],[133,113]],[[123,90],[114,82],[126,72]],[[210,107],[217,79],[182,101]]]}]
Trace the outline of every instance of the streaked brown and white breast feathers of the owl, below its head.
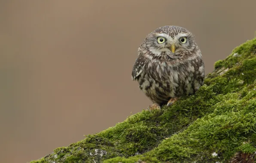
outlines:
[{"label": "streaked brown and white breast feathers of the owl, below its head", "polygon": [[150,60],[138,80],[140,89],[153,101],[168,101],[170,97],[192,94],[195,65],[192,61],[170,65]]}]

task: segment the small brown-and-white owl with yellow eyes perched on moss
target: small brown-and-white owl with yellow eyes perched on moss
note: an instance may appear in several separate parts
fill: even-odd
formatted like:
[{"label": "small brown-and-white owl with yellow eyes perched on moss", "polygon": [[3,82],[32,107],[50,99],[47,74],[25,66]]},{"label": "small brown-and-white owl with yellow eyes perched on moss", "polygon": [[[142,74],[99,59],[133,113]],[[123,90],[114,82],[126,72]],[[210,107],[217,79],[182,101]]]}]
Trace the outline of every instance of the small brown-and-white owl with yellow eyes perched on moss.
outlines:
[{"label": "small brown-and-white owl with yellow eyes perched on moss", "polygon": [[195,94],[204,83],[204,62],[195,36],[178,26],[149,33],[138,48],[131,78],[152,101],[149,111]]}]

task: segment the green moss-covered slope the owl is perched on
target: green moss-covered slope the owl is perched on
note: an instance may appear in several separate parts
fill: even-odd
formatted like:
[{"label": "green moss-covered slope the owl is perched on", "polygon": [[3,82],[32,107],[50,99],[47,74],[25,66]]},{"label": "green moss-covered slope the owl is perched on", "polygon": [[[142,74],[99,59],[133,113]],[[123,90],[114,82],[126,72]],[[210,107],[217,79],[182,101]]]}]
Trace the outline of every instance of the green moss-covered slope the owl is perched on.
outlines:
[{"label": "green moss-covered slope the owl is perched on", "polygon": [[143,110],[31,163],[253,161],[256,151],[256,38],[235,48],[195,95]]}]

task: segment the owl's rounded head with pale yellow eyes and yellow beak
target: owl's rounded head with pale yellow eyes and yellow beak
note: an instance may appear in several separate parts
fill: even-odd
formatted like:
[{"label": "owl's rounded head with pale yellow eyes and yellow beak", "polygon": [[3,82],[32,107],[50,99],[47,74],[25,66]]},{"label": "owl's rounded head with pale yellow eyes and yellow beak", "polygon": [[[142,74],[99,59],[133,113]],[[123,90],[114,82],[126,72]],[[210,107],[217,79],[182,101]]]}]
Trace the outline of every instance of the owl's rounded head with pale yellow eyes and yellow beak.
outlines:
[{"label": "owl's rounded head with pale yellow eyes and yellow beak", "polygon": [[194,38],[194,35],[183,27],[164,26],[149,33],[143,44],[155,57],[167,54],[177,58],[191,53],[197,47]]}]

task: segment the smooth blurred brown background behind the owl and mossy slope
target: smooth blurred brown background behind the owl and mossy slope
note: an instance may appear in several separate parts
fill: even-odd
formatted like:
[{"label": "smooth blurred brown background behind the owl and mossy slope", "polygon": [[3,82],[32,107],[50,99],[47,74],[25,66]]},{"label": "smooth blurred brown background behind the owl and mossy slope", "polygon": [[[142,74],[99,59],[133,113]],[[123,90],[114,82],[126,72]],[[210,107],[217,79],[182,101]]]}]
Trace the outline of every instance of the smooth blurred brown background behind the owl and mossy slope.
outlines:
[{"label": "smooth blurred brown background behind the owl and mossy slope", "polygon": [[131,70],[155,28],[192,31],[208,73],[254,37],[255,9],[255,0],[0,0],[0,162],[39,159],[146,109]]}]

